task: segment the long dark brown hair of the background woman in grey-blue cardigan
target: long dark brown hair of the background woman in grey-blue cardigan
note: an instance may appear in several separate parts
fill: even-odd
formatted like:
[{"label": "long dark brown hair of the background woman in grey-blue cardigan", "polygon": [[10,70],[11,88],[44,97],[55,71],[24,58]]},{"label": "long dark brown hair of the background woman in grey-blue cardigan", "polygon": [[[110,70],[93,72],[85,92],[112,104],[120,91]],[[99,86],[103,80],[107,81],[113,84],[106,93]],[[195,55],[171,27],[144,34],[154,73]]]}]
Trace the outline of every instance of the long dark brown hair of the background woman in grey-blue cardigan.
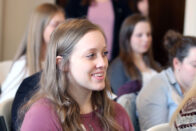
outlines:
[{"label": "long dark brown hair of the background woman in grey-blue cardigan", "polygon": [[[121,26],[119,43],[120,59],[122,60],[128,74],[131,76],[132,79],[141,80],[141,73],[134,64],[133,50],[130,47],[130,37],[132,36],[135,26],[138,22],[150,23],[149,19],[141,14],[134,14],[128,16]],[[160,68],[157,66],[153,59],[152,46],[146,53],[143,54],[143,59],[146,65],[152,67],[157,71],[160,71]]]}]

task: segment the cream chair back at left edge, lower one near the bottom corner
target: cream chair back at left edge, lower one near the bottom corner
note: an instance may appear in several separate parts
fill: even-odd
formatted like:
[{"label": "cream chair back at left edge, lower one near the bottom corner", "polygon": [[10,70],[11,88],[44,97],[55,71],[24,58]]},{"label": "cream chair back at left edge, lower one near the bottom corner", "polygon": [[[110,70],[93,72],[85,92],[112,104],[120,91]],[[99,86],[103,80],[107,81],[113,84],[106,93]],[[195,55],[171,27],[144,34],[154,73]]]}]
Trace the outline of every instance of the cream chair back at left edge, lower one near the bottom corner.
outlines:
[{"label": "cream chair back at left edge, lower one near the bottom corner", "polygon": [[8,131],[11,130],[11,108],[14,98],[7,99],[0,103],[0,116],[3,116]]}]

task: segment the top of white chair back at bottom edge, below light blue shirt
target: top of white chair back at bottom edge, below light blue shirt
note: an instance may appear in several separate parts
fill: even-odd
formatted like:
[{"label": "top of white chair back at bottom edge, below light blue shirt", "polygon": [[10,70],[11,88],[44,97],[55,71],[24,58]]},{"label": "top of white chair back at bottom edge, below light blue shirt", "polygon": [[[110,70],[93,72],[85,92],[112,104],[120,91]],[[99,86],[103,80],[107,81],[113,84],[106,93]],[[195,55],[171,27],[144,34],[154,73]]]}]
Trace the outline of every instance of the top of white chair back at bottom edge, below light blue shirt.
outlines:
[{"label": "top of white chair back at bottom edge, below light blue shirt", "polygon": [[164,123],[164,124],[153,126],[147,131],[171,131],[171,128],[169,126],[169,123]]}]

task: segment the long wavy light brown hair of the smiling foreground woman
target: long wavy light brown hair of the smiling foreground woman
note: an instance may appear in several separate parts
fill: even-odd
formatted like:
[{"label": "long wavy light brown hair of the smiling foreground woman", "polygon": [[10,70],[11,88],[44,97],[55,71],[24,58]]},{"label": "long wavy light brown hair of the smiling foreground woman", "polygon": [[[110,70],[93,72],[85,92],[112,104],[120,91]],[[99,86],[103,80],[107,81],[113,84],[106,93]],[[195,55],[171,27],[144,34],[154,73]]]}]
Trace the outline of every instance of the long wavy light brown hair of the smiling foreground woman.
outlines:
[{"label": "long wavy light brown hair of the smiling foreground woman", "polygon": [[[23,106],[21,113],[40,98],[48,98],[54,105],[62,128],[65,131],[83,130],[80,121],[80,107],[74,98],[69,94],[69,79],[62,69],[68,65],[70,55],[78,41],[90,31],[103,31],[86,19],[70,19],[61,24],[51,35],[49,42],[45,67],[41,76],[41,88],[33,98]],[[56,57],[62,56],[60,65],[56,64]],[[113,102],[108,98],[107,92],[110,88],[107,85],[102,91],[94,91],[91,96],[93,110],[100,119],[103,130],[119,131],[122,128],[115,120]]]}]

